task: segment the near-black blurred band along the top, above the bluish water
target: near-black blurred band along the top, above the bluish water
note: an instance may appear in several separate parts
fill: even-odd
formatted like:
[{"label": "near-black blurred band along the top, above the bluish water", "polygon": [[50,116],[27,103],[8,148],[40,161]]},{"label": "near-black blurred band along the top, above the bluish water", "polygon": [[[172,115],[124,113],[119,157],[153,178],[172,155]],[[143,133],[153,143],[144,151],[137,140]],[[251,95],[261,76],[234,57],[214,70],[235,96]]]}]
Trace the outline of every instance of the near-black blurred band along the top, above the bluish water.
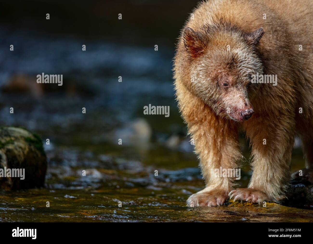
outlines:
[{"label": "near-black blurred band along the top, above the bluish water", "polygon": [[[174,48],[198,1],[2,1],[1,23],[48,36]],[[50,21],[46,21],[46,13]],[[123,21],[117,17],[122,13]],[[44,18],[43,18],[44,17]]]}]

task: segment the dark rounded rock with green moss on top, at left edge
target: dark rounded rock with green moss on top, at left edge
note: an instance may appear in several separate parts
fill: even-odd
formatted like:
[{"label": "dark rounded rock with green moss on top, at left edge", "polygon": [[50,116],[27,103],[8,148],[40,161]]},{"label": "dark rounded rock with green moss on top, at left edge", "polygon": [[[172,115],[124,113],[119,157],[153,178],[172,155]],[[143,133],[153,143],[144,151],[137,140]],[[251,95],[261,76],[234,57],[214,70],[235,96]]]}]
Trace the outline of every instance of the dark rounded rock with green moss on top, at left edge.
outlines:
[{"label": "dark rounded rock with green moss on top, at left edge", "polygon": [[1,189],[41,187],[46,170],[46,154],[38,135],[22,128],[0,128]]}]

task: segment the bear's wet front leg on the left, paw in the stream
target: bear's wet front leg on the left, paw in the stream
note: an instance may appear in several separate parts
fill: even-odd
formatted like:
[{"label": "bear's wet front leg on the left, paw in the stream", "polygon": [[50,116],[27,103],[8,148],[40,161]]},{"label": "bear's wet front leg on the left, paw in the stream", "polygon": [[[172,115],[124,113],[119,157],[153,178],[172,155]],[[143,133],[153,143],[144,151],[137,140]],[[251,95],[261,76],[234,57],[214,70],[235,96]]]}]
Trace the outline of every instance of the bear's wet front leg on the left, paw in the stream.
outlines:
[{"label": "bear's wet front leg on the left, paw in the stream", "polygon": [[242,160],[237,128],[232,121],[218,117],[204,106],[203,111],[193,114],[188,121],[188,130],[194,139],[206,187],[191,195],[187,206],[221,206],[228,198],[235,177],[219,177],[220,167],[236,169]]}]

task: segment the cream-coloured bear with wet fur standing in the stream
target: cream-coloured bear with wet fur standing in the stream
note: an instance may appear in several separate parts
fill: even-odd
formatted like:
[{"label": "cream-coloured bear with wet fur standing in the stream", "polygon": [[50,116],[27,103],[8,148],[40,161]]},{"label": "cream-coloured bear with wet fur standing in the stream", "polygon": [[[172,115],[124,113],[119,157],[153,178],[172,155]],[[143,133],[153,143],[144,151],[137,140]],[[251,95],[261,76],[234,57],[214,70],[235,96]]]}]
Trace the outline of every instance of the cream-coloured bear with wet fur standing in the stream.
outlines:
[{"label": "cream-coloured bear with wet fur standing in the stream", "polygon": [[[174,86],[206,186],[187,206],[221,206],[228,197],[279,203],[296,135],[306,168],[313,168],[312,9],[310,0],[209,0],[188,18]],[[215,171],[240,166],[240,132],[251,148],[248,188]]]}]

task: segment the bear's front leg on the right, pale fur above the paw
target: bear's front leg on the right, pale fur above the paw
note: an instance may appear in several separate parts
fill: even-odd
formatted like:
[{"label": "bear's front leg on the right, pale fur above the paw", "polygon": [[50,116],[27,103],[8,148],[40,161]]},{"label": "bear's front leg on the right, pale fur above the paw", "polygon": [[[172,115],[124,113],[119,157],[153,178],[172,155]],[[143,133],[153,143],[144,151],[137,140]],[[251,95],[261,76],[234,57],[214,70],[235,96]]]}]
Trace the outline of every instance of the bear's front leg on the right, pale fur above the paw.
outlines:
[{"label": "bear's front leg on the right, pale fur above the paw", "polygon": [[252,144],[253,174],[248,188],[231,191],[230,199],[259,204],[278,202],[284,197],[290,179],[294,120],[287,115],[281,115],[278,120],[255,114],[244,126]]}]

